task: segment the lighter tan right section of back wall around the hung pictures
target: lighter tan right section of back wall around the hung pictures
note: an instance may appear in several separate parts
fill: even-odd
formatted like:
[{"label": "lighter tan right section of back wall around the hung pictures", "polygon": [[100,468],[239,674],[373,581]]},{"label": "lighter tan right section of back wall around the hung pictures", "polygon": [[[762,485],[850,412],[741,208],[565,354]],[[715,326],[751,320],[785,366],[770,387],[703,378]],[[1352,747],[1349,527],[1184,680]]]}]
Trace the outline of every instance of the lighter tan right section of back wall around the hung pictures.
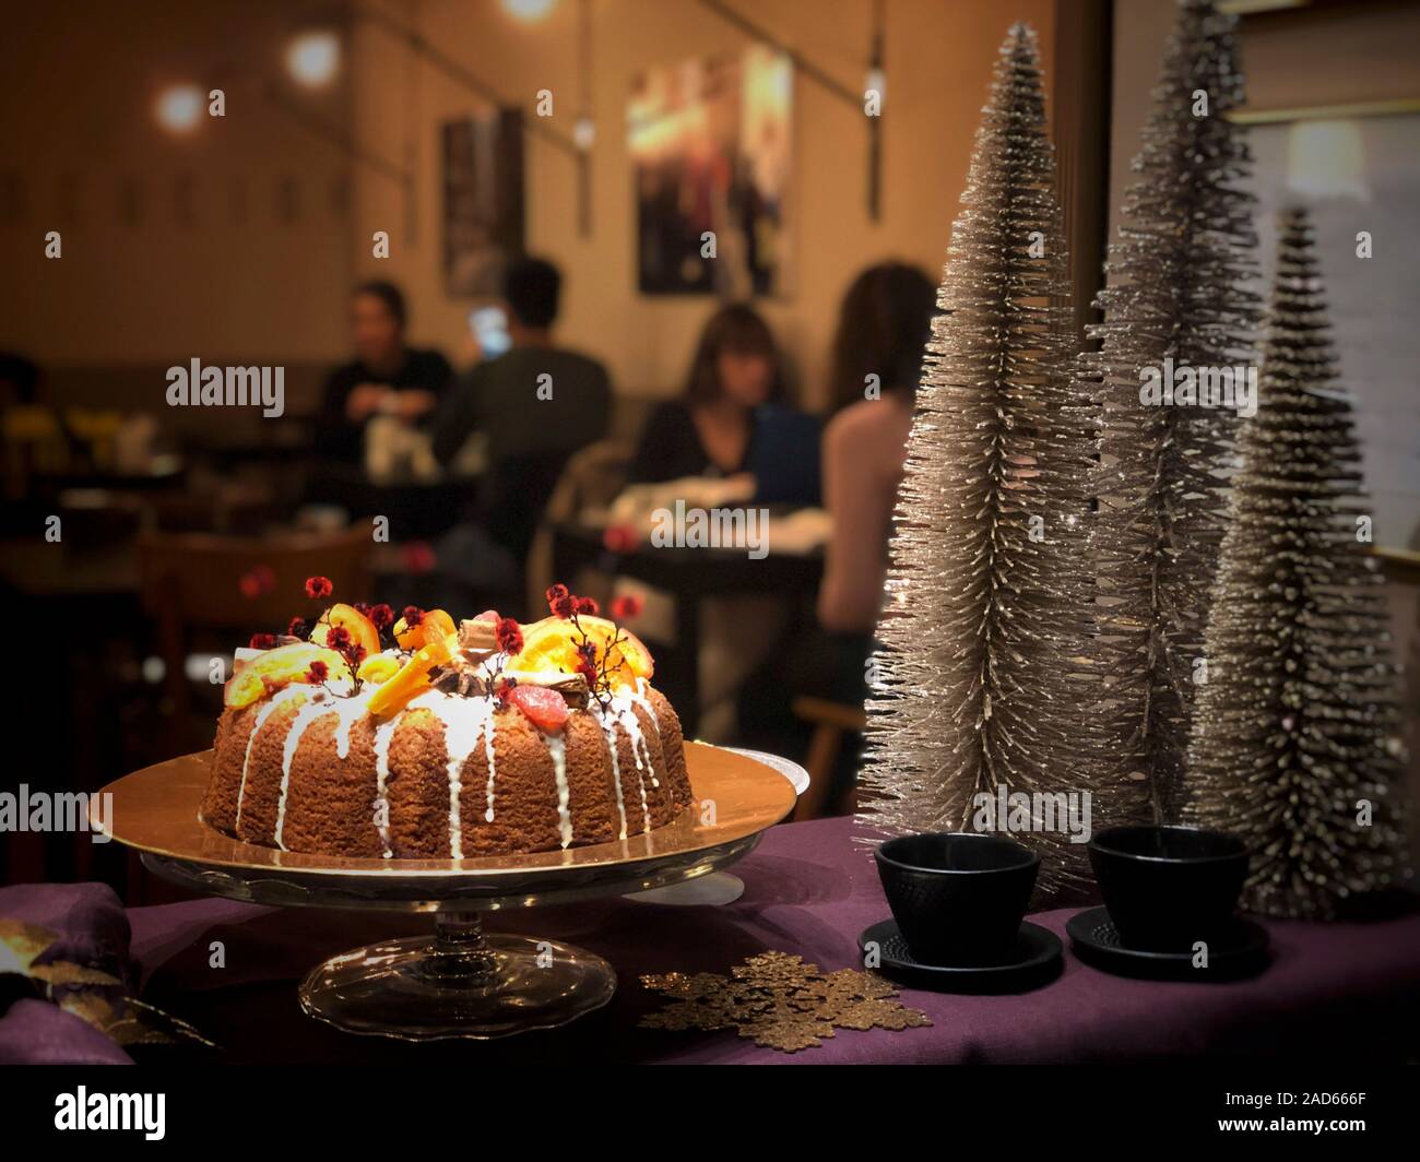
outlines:
[{"label": "lighter tan right section of back wall around the hung pictures", "polygon": [[[392,4],[412,13],[432,43],[500,91],[531,108],[540,88],[554,91],[555,124],[575,118],[575,4],[561,0],[537,24],[508,17],[494,0],[419,0]],[[1052,0],[998,3],[890,0],[888,4],[888,99],[885,213],[870,223],[865,205],[863,116],[815,84],[795,82],[795,200],[791,209],[795,290],[765,314],[804,374],[809,403],[824,396],[828,345],[838,301],[863,266],[899,257],[937,277],[971,136],[984,104],[995,50],[1011,18],[1041,34],[1049,64]],[[763,0],[740,4],[843,84],[861,87],[868,55],[868,0]],[[605,359],[623,392],[679,389],[696,332],[711,300],[648,298],[636,293],[632,173],[623,116],[632,77],[687,57],[734,51],[747,41],[693,0],[594,0],[594,233],[577,234],[572,159],[530,138],[528,244],[552,257],[567,276],[562,335]],[[405,232],[398,189],[364,178],[356,234],[361,273],[403,283],[413,300],[416,338],[459,349],[467,304],[449,300],[439,273],[437,126],[476,108],[442,74],[410,61],[402,43],[364,27],[356,38],[354,119],[364,142],[389,156],[416,156],[416,229]],[[369,257],[368,237],[388,229],[389,260]]]}]

